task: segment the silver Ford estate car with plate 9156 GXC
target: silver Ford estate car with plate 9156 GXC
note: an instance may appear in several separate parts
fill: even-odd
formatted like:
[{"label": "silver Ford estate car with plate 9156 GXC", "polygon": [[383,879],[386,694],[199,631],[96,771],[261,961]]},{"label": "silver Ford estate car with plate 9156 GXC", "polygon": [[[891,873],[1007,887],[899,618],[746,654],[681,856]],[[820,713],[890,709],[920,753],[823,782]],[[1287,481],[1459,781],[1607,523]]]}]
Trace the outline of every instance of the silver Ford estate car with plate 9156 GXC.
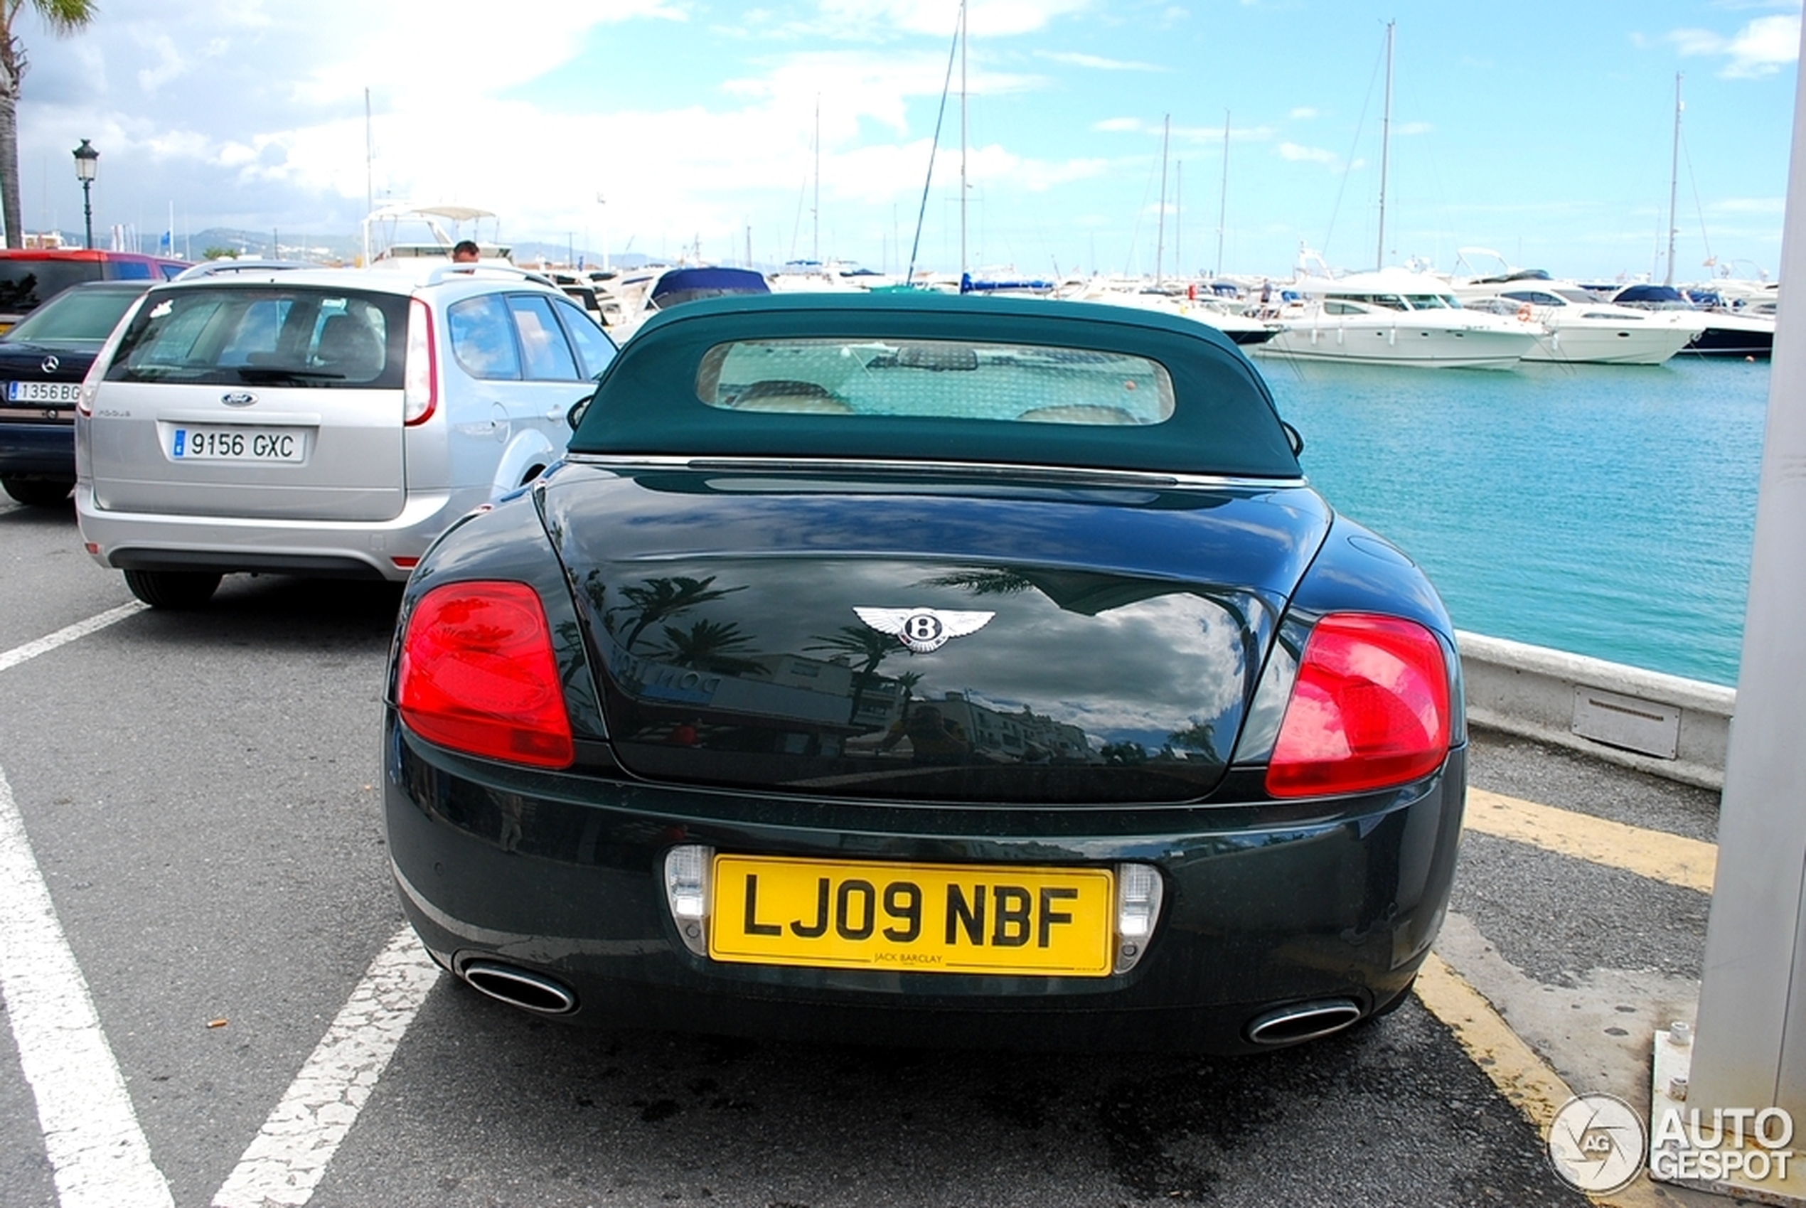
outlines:
[{"label": "silver Ford estate car with plate 9156 GXC", "polygon": [[88,553],[163,609],[249,571],[405,580],[563,453],[614,345],[535,274],[253,269],[150,291],[76,414]]}]

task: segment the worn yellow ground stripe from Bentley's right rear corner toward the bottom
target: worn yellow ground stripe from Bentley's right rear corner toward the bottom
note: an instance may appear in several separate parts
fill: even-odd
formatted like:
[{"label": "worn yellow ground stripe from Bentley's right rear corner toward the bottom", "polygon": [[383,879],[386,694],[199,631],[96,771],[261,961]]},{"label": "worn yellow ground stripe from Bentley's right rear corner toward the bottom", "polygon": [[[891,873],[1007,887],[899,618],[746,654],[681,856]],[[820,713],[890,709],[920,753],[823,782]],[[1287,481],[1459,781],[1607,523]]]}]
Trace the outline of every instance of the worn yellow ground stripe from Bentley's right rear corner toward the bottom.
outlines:
[{"label": "worn yellow ground stripe from Bentley's right rear corner toward the bottom", "polygon": [[[1418,970],[1418,1000],[1443,1022],[1466,1051],[1468,1058],[1479,1065],[1481,1073],[1492,1080],[1517,1110],[1535,1125],[1539,1138],[1548,1138],[1550,1125],[1562,1103],[1575,1096],[1573,1089],[1537,1051],[1524,1044],[1512,1027],[1492,1009],[1485,995],[1466,984],[1459,973],[1434,952],[1425,957]],[[1553,1174],[1553,1172],[1551,1172]],[[1587,1195],[1595,1204],[1606,1208],[1660,1208],[1680,1203],[1649,1181],[1647,1174],[1620,1192],[1609,1195]]]}]

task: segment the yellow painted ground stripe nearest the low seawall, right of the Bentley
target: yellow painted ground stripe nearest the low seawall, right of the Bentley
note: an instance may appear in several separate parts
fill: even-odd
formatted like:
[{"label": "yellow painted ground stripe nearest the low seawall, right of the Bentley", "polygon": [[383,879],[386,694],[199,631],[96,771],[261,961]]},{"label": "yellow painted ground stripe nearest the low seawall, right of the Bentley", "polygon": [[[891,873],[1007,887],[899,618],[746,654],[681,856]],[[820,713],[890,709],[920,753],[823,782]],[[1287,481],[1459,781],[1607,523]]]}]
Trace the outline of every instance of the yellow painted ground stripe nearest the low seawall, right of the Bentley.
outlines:
[{"label": "yellow painted ground stripe nearest the low seawall, right of the Bentley", "polygon": [[1485,789],[1468,789],[1465,825],[1481,834],[1624,869],[1701,894],[1712,892],[1712,872],[1718,869],[1716,843],[1522,802]]}]

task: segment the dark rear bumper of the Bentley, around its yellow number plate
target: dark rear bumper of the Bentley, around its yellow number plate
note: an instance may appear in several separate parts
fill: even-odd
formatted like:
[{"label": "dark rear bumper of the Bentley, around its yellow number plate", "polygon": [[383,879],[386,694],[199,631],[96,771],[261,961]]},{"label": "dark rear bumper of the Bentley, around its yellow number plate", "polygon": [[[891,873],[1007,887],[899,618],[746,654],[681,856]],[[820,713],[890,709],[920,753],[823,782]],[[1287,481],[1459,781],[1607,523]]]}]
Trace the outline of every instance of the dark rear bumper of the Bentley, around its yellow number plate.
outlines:
[{"label": "dark rear bumper of the Bentley, around its yellow number plate", "polygon": [[[385,735],[403,910],[462,971],[551,979],[585,1024],[861,1044],[1253,1051],[1284,1004],[1371,1015],[1403,993],[1454,878],[1465,749],[1405,789],[1300,822],[1239,807],[912,809],[540,775]],[[1131,816],[1132,814],[1132,816]],[[984,823],[990,818],[990,823]],[[726,964],[677,935],[661,869],[717,850],[984,865],[1152,863],[1165,906],[1129,973],[995,977]]]}]

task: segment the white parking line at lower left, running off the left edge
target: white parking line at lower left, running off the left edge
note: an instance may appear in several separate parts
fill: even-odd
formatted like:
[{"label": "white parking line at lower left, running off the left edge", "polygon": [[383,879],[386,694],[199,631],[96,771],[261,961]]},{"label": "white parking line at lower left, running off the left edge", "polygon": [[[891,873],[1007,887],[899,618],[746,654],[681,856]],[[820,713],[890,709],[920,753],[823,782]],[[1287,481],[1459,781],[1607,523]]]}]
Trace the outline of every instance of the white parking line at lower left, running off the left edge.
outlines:
[{"label": "white parking line at lower left, running off the left edge", "polygon": [[[31,655],[25,655],[31,657]],[[61,1208],[170,1204],[0,771],[0,995]]]}]

